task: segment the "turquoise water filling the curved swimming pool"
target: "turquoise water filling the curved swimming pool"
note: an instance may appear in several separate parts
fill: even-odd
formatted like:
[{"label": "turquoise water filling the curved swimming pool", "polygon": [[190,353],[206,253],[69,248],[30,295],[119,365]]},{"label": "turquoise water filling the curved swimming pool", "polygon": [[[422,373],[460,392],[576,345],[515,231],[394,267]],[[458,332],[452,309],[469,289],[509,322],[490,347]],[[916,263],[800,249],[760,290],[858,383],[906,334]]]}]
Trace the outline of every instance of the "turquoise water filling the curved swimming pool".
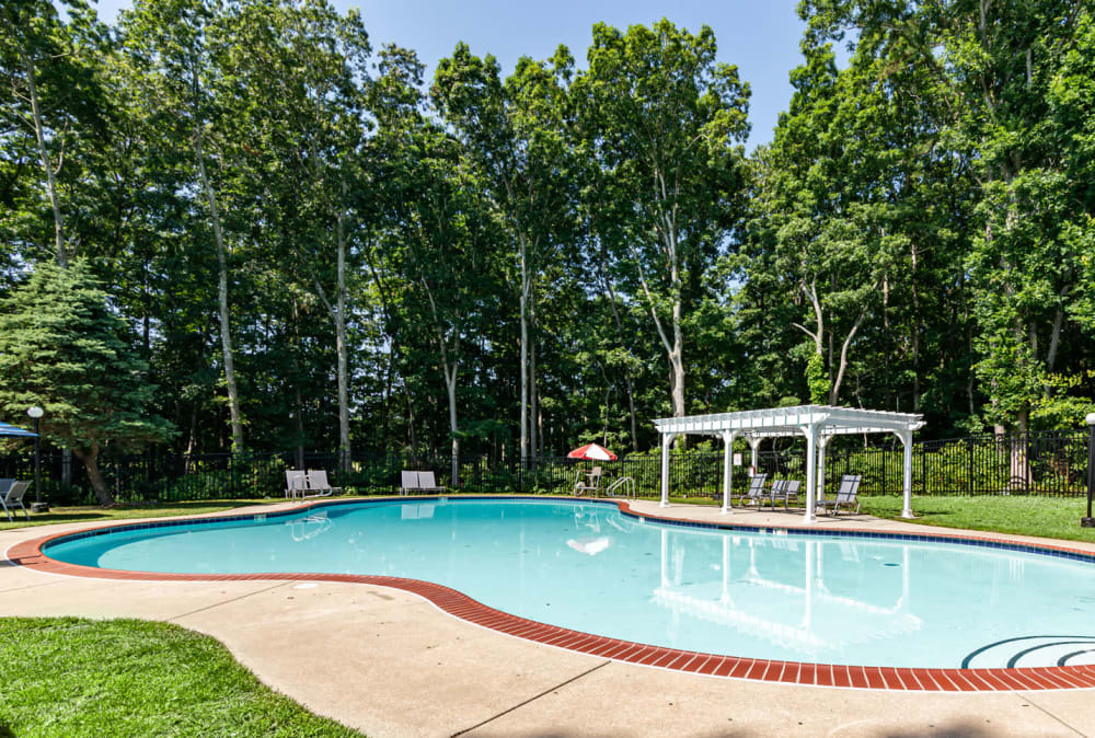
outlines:
[{"label": "turquoise water filling the curved swimming pool", "polygon": [[560,500],[336,504],[61,540],[140,572],[424,579],[531,620],[752,658],[895,667],[1095,662],[1095,564],[885,538],[641,522]]}]

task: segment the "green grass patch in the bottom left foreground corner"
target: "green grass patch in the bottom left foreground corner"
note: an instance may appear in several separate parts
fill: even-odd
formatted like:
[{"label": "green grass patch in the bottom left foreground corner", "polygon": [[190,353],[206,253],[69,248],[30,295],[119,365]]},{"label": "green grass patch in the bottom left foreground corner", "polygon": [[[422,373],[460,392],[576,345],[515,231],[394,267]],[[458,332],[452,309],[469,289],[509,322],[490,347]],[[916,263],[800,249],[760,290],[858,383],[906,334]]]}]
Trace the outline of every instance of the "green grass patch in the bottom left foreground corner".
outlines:
[{"label": "green grass patch in the bottom left foreground corner", "polygon": [[168,623],[0,619],[0,736],[361,735]]}]

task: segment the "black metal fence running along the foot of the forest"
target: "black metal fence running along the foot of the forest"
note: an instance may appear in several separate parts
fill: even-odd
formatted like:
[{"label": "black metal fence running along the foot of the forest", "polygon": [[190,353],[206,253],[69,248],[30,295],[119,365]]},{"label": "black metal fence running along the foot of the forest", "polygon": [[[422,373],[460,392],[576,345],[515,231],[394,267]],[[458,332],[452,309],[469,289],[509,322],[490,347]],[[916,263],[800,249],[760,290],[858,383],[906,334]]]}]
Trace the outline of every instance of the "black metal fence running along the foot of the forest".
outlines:
[{"label": "black metal fence running along the foot of the forest", "polygon": [[[920,495],[1052,495],[1085,494],[1086,431],[976,436],[914,443],[913,492]],[[842,474],[861,474],[861,494],[900,494],[903,449],[833,441],[825,460],[826,486]],[[771,448],[779,445],[779,449]],[[765,448],[768,447],[768,448]],[[745,464],[748,448],[739,450]],[[673,495],[716,495],[723,487],[722,452],[687,451],[670,456]],[[299,464],[292,452],[205,453],[193,456],[148,451],[132,456],[103,456],[100,469],[117,501],[177,501],[277,497],[284,494],[285,471]],[[355,454],[349,469],[338,468],[336,453],[306,453],[303,465],[327,470],[332,484],[357,494],[392,494],[400,471],[431,470],[439,484],[453,485],[448,457],[410,459],[404,456]],[[459,488],[464,492],[568,493],[579,470],[599,465],[607,477],[631,476],[639,496],[660,494],[661,460],[657,453],[618,461],[589,462],[550,457],[538,459],[459,460]],[[786,439],[768,441],[758,459],[759,471],[773,477],[803,478],[805,443]],[[0,457],[0,477],[33,478],[30,450]],[[747,466],[734,470],[734,486],[747,483]],[[83,464],[71,456],[45,454],[42,459],[43,497],[54,504],[93,503],[94,495]]]}]

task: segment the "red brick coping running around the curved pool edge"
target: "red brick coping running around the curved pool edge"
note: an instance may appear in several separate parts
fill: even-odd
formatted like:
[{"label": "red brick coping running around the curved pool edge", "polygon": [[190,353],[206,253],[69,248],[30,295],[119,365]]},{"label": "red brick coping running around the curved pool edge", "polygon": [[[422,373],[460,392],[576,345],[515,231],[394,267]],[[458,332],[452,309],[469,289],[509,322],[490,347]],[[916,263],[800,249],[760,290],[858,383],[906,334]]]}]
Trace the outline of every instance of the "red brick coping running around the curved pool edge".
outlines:
[{"label": "red brick coping running around the curved pool edge", "polygon": [[[124,569],[104,569],[91,566],[80,566],[50,558],[44,553],[51,543],[62,539],[77,539],[88,535],[102,535],[119,530],[137,530],[146,528],[162,528],[191,524],[195,522],[226,522],[232,520],[255,520],[299,515],[302,510],[337,506],[384,504],[400,501],[403,498],[385,497],[381,499],[320,500],[304,504],[286,510],[272,512],[254,512],[247,515],[224,515],[204,518],[174,518],[141,523],[108,523],[93,528],[53,533],[35,539],[28,539],[13,544],[7,552],[7,558],[18,566],[25,566],[48,574],[68,576],[122,579],[131,581],[335,581],[366,584],[381,587],[392,587],[417,595],[441,611],[469,623],[480,625],[499,633],[532,641],[567,650],[588,654],[600,658],[626,664],[636,664],[671,671],[722,677],[730,679],[749,679],[765,682],[782,682],[812,687],[832,687],[850,689],[873,689],[912,692],[1000,692],[1000,691],[1034,691],[1034,690],[1073,690],[1095,688],[1095,665],[1067,665],[1036,668],[993,668],[993,669],[956,669],[956,668],[899,668],[874,666],[843,666],[832,664],[806,664],[799,661],[781,661],[754,658],[739,658],[699,651],[665,648],[646,644],[591,635],[556,625],[548,625],[526,618],[511,615],[479,602],[466,595],[431,581],[406,579],[401,577],[353,575],[353,574],[313,574],[313,573],[262,573],[262,574],[175,574],[153,572],[129,572]],[[447,496],[416,497],[416,500],[451,499]],[[573,501],[573,497],[527,497],[507,496],[460,496],[456,499],[527,499]],[[712,528],[724,530],[744,530],[762,533],[793,532],[806,535],[844,535],[850,538],[885,538],[897,540],[936,541],[959,543],[973,546],[990,546],[1041,553],[1052,556],[1095,562],[1095,554],[1080,549],[1068,549],[1053,545],[1033,545],[1017,543],[1007,539],[975,538],[954,533],[884,533],[867,529],[820,530],[802,527],[747,526],[737,523],[713,523],[696,520],[665,518],[648,512],[632,509],[625,500],[619,499],[585,499],[585,504],[615,505],[621,514],[639,521],[652,520],[691,528]]]}]

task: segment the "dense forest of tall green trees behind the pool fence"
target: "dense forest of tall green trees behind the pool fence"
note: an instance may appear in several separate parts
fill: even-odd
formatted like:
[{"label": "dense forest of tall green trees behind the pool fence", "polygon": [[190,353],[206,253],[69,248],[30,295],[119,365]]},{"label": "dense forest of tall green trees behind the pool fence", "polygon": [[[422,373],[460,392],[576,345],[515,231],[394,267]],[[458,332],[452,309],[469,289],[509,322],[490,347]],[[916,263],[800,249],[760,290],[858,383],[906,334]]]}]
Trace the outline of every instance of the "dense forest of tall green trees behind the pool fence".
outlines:
[{"label": "dense forest of tall green trees behind the pool fence", "polygon": [[62,11],[0,8],[0,418],[43,406],[89,473],[148,445],[642,452],[653,417],[809,402],[934,438],[1093,410],[1090,3],[805,0],[750,154],[708,27],[597,24],[508,77],[458,45],[426,80],[322,0]]}]

